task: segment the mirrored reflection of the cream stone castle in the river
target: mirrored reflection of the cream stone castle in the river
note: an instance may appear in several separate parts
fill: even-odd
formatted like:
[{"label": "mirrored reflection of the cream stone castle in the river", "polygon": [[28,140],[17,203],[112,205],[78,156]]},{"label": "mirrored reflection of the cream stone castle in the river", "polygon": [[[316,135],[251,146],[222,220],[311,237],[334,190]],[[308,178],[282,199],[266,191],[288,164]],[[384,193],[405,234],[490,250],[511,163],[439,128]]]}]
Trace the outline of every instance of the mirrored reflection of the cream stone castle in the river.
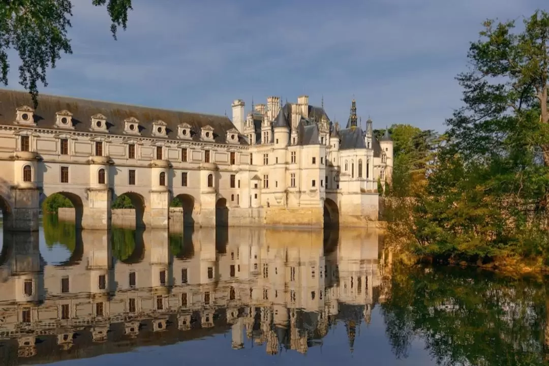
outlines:
[{"label": "mirrored reflection of the cream stone castle in the river", "polygon": [[229,328],[235,349],[249,340],[270,354],[304,353],[338,320],[352,350],[378,296],[375,232],[340,232],[324,253],[322,232],[230,228],[216,245],[215,231],[199,230],[174,253],[167,231],[147,230],[124,261],[111,255],[110,233],[80,235],[71,258],[53,266],[37,233],[4,234],[0,359],[14,347],[32,357],[25,362],[91,357]]}]

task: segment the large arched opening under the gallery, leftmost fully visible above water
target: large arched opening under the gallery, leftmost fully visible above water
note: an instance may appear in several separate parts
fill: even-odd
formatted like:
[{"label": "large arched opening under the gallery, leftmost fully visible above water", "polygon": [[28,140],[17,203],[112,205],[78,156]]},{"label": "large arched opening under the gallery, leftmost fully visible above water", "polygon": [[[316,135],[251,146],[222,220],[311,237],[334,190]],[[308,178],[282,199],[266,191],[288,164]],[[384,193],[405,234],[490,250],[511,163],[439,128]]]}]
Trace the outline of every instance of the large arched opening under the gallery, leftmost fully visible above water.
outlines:
[{"label": "large arched opening under the gallery, leftmost fully visible above water", "polygon": [[[70,192],[57,192],[41,196],[44,216],[55,215],[59,221],[75,223],[76,229],[82,229],[84,205],[79,195]],[[71,210],[72,209],[72,210]]]}]

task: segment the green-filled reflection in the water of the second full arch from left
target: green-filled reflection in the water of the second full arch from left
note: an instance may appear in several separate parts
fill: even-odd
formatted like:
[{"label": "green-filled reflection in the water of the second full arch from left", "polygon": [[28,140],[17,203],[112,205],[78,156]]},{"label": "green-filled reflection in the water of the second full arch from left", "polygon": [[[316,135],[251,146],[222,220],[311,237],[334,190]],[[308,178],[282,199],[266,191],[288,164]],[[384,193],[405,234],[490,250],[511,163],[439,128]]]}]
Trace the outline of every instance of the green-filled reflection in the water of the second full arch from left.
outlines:
[{"label": "green-filled reflection in the water of the second full arch from left", "polygon": [[117,261],[126,264],[141,262],[145,257],[143,229],[113,228],[111,247]]}]

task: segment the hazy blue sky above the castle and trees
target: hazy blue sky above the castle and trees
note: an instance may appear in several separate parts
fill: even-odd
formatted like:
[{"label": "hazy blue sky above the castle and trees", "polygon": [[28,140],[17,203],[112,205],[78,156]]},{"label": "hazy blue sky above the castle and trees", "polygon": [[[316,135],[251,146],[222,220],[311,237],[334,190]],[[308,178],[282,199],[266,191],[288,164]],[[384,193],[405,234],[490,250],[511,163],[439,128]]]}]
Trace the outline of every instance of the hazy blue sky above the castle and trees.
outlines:
[{"label": "hazy blue sky above the castle and trees", "polygon": [[[344,122],[352,96],[374,128],[442,131],[460,106],[454,77],[486,18],[518,19],[542,0],[133,0],[128,29],[74,0],[72,55],[48,94],[231,116],[233,99],[309,95]],[[9,87],[19,88],[12,54]]]}]

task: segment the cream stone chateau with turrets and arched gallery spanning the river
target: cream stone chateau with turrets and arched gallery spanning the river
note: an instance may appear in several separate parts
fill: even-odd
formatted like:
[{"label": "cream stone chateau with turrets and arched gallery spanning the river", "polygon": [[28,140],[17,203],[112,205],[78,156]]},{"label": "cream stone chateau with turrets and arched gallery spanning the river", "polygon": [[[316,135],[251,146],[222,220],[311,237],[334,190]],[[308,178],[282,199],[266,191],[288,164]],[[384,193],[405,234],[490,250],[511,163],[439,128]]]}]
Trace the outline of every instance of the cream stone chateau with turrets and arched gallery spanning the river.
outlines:
[{"label": "cream stone chateau with turrets and arched gallery spanning the river", "polygon": [[393,142],[345,128],[322,106],[269,97],[227,116],[0,90],[0,196],[4,226],[37,230],[41,202],[61,193],[77,226],[106,229],[126,194],[136,226],[167,228],[170,202],[188,226],[365,227],[378,219],[378,182]]}]

